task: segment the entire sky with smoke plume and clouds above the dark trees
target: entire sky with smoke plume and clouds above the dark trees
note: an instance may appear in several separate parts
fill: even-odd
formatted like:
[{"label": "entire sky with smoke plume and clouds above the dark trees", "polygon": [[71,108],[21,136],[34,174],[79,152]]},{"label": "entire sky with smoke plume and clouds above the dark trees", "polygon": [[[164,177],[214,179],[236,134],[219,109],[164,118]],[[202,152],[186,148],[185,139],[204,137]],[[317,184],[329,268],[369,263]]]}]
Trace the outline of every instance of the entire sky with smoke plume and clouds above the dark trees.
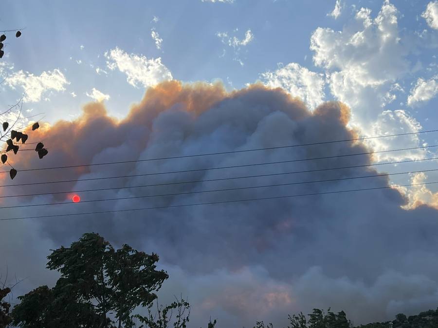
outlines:
[{"label": "entire sky with smoke plume and clouds above the dark trees", "polygon": [[[257,320],[280,326],[287,314],[314,307],[345,310],[366,323],[437,307],[438,173],[419,171],[437,168],[429,158],[438,157],[438,133],[419,132],[437,129],[438,1],[4,1],[2,13],[0,30],[22,35],[6,32],[0,103],[7,108],[24,94],[20,124],[41,120],[29,141],[43,140],[49,154],[9,155],[18,175],[11,182],[3,174],[1,184],[74,180],[2,187],[2,196],[45,193],[2,197],[2,207],[69,201],[72,194],[60,190],[125,188],[80,193],[85,201],[238,188],[0,208],[2,218],[52,215],[0,222],[4,262],[26,277],[14,295],[53,285],[57,274],[45,270],[49,249],[95,231],[113,245],[158,253],[170,276],[160,300],[186,295],[194,327],[210,316],[220,327]],[[403,133],[415,134],[19,172]],[[385,152],[405,148],[415,149]],[[362,152],[381,153],[214,169]],[[378,165],[365,166],[371,164]],[[315,171],[346,165],[363,166]],[[98,180],[193,168],[213,169]],[[206,181],[291,170],[312,172]],[[326,179],[348,180],[245,189]],[[197,182],[127,188],[181,180]],[[416,186],[56,216],[409,184]]]}]

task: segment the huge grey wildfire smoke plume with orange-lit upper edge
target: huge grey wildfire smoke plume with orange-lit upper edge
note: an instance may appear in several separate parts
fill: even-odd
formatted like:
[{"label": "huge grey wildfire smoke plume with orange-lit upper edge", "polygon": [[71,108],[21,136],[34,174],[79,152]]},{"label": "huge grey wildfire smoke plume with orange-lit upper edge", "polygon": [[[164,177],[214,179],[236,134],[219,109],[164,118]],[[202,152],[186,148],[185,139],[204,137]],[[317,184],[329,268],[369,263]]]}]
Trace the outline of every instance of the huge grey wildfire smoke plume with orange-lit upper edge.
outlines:
[{"label": "huge grey wildfire smoke plume with orange-lit upper edge", "polygon": [[[402,113],[391,115],[387,114],[386,120],[403,117]],[[133,105],[123,120],[108,116],[103,103],[91,103],[84,106],[82,115],[73,121],[59,121],[53,126],[41,124],[33,138],[44,140],[44,144],[50,146],[50,154],[44,158],[48,162],[44,166],[55,167],[109,162],[115,158],[135,160],[233,152],[355,138],[357,134],[347,128],[349,118],[349,109],[344,104],[324,103],[310,111],[289,93],[262,84],[227,93],[220,84],[167,81],[148,88],[143,100]],[[372,167],[290,173],[368,165],[372,161],[368,155],[214,169],[363,153],[368,150],[361,142],[339,142],[293,149],[47,170],[40,171],[33,178],[35,182],[71,181],[62,186],[19,186],[29,180],[25,172],[18,172],[14,179],[17,186],[13,191],[1,190],[2,195],[12,192],[49,194],[26,200],[8,199],[8,206],[64,202],[71,196],[69,193],[55,194],[54,191],[187,181],[195,182],[84,191],[81,192],[81,198],[103,200],[201,190],[233,190],[79,203],[74,206],[69,203],[3,208],[1,215],[2,218],[36,213],[55,215],[389,187],[388,177],[380,176],[247,188],[379,173]],[[20,170],[41,165],[35,154],[26,153],[11,157],[11,160],[11,164]],[[85,178],[201,168],[211,169],[80,181]],[[257,174],[271,175],[211,181]],[[7,177],[3,175],[0,179]],[[17,247],[14,254],[6,254],[8,263],[9,258],[21,259],[32,255],[29,263],[22,262],[17,269],[10,266],[10,270],[16,272],[18,277],[32,276],[32,284],[20,290],[23,293],[41,281],[48,283],[49,278],[37,271],[45,265],[41,252],[46,256],[49,247],[66,245],[77,240],[84,232],[95,231],[116,247],[128,243],[146,252],[159,254],[159,268],[168,268],[170,275],[169,283],[164,283],[160,297],[166,300],[166,297],[170,299],[173,294],[180,292],[188,296],[193,306],[191,323],[194,326],[205,325],[205,318],[210,315],[218,318],[223,327],[252,327],[256,320],[270,318],[276,318],[277,321],[272,322],[280,326],[285,325],[288,313],[306,313],[313,307],[329,306],[334,311],[347,311],[348,316],[359,324],[369,320],[391,319],[401,311],[409,315],[436,307],[438,210],[425,205],[404,210],[402,206],[407,201],[399,190],[381,189],[62,219],[43,218],[31,221],[31,229],[26,221],[18,220],[7,222],[7,225],[0,222],[2,228],[13,232],[6,233],[0,243],[12,249]],[[0,198],[0,202],[6,204],[5,198]],[[37,245],[31,254],[23,249],[23,238],[17,238],[26,237],[26,231],[32,231],[33,241]],[[40,236],[40,244],[36,236]],[[40,267],[35,268],[38,263]]]}]

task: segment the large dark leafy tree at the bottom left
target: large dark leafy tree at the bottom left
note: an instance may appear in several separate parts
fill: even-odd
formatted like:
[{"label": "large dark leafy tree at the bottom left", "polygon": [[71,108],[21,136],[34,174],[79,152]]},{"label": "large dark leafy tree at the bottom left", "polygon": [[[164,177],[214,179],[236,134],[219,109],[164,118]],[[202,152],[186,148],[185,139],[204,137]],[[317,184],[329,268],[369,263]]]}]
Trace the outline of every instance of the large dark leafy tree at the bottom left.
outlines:
[{"label": "large dark leafy tree at the bottom left", "polygon": [[[84,234],[70,247],[52,250],[47,258],[47,268],[61,276],[53,289],[41,286],[20,297],[21,304],[12,311],[15,325],[115,327],[110,312],[118,327],[133,327],[133,309],[152,303],[157,297],[153,291],[168,278],[163,270],[155,270],[156,254],[147,255],[128,245],[114,251],[95,233]],[[61,325],[62,320],[68,326]],[[31,325],[32,321],[41,326]]]}]

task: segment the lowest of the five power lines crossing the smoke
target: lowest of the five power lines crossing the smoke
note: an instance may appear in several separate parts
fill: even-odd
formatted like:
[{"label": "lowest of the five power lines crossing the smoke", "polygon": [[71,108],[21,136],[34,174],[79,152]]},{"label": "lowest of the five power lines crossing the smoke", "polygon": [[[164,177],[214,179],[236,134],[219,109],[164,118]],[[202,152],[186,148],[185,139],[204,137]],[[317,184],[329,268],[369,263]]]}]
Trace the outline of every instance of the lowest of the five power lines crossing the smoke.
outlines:
[{"label": "lowest of the five power lines crossing the smoke", "polygon": [[295,195],[272,196],[272,197],[261,197],[261,198],[251,198],[251,199],[236,199],[236,200],[219,201],[219,202],[206,202],[206,203],[194,203],[194,204],[192,203],[192,204],[167,205],[167,206],[143,207],[143,208],[128,208],[128,209],[117,209],[117,210],[95,211],[95,212],[83,212],[83,213],[65,213],[65,214],[53,214],[53,215],[25,216],[25,217],[19,217],[19,218],[5,218],[5,219],[0,219],[0,221],[12,221],[12,220],[24,220],[24,219],[41,219],[41,218],[52,218],[52,217],[62,217],[62,216],[74,216],[74,215],[104,214],[104,213],[116,213],[116,212],[128,212],[128,211],[141,211],[141,210],[148,210],[148,209],[163,209],[163,208],[174,208],[174,207],[189,207],[189,206],[227,204],[227,203],[238,203],[238,202],[252,202],[252,201],[271,200],[271,199],[280,199],[280,198],[293,198],[293,197],[304,197],[304,196],[315,196],[315,195],[327,195],[327,194],[335,194],[335,193],[347,193],[347,192],[365,191],[365,190],[379,190],[379,189],[392,189],[392,188],[398,188],[398,187],[423,186],[423,185],[431,185],[431,184],[436,184],[436,183],[438,183],[438,181],[436,181],[436,182],[416,183],[416,184],[409,184],[409,185],[399,185],[399,186],[374,187],[374,188],[365,188],[365,189],[351,189],[351,190],[313,192],[313,193],[298,194],[298,195],[295,194]]}]

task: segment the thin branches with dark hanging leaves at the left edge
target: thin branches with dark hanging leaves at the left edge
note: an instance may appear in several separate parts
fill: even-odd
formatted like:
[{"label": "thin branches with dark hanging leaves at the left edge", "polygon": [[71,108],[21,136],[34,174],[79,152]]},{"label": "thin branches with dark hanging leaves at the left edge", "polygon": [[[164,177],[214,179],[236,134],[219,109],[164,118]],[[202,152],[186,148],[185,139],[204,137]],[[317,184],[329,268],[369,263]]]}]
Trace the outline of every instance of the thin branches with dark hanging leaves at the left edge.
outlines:
[{"label": "thin branches with dark hanging leaves at the left edge", "polygon": [[[3,41],[5,41],[7,38],[7,36],[6,36],[7,32],[15,32],[16,37],[21,36],[21,32],[19,30],[4,31],[3,34],[0,35],[0,58],[2,58],[4,55]],[[5,78],[5,80],[6,80],[6,78]],[[5,80],[3,80],[2,82],[4,82]],[[36,129],[39,128],[38,122],[35,122],[33,124],[29,124],[29,125],[24,126],[24,127],[15,128],[18,120],[21,117],[21,110],[23,107],[23,99],[24,99],[24,95],[18,100],[17,104],[9,106],[9,108],[6,111],[4,111],[3,113],[0,113],[0,117],[2,118],[2,121],[3,121],[2,122],[2,131],[0,131],[0,140],[6,142],[6,144],[7,144],[6,150],[0,151],[0,153],[2,153],[2,155],[0,156],[0,160],[1,160],[3,165],[5,163],[7,163],[11,167],[11,169],[9,171],[9,176],[11,177],[11,179],[15,178],[15,176],[17,175],[17,170],[8,162],[7,153],[12,150],[14,152],[14,154],[17,155],[18,150],[20,149],[19,142],[21,141],[21,145],[23,145],[26,143],[27,139],[29,138],[29,136],[26,133],[23,133],[23,131],[35,131]],[[14,113],[15,109],[18,111],[18,115],[16,115],[15,121],[12,124],[9,124],[9,122],[7,120],[4,120],[3,118],[5,116],[14,116],[13,113]],[[25,130],[30,125],[32,125],[32,129]],[[19,131],[19,130],[22,130],[22,131]],[[14,142],[14,139],[16,140],[16,142]],[[35,148],[35,151],[37,152],[38,157],[40,159],[49,153],[48,150],[46,148],[44,148],[44,144],[42,142],[37,143],[37,147]]]}]

